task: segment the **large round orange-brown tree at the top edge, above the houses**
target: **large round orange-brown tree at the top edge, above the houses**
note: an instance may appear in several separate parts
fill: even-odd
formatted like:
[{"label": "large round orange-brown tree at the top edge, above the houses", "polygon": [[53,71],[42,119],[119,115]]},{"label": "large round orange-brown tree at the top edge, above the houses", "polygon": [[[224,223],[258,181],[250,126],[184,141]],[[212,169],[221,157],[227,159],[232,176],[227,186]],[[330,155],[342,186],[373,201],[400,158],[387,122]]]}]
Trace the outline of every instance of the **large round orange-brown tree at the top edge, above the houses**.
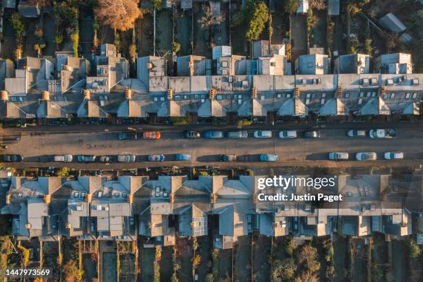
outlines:
[{"label": "large round orange-brown tree at the top edge, above the houses", "polygon": [[133,27],[142,13],[134,0],[99,0],[95,15],[111,28],[125,31]]}]

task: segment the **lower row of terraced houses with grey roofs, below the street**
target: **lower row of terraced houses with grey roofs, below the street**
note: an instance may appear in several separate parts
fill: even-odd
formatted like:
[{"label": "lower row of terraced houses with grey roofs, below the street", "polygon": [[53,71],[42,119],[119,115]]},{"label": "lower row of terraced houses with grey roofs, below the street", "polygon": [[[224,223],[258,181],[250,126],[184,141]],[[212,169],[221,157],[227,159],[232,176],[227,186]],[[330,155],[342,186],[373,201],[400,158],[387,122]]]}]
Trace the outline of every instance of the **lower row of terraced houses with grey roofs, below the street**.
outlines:
[{"label": "lower row of terraced houses with grey roofs, below the street", "polygon": [[[59,236],[70,236],[135,241],[142,236],[158,245],[174,245],[176,236],[212,235],[214,247],[227,249],[252,232],[306,240],[333,232],[406,236],[413,232],[411,214],[421,203],[421,176],[337,176],[334,187],[320,190],[301,184],[261,190],[258,178],[12,177],[1,214],[12,215],[12,234],[19,240],[57,241]],[[263,202],[258,200],[263,193],[288,198],[341,194],[344,200]]]}]

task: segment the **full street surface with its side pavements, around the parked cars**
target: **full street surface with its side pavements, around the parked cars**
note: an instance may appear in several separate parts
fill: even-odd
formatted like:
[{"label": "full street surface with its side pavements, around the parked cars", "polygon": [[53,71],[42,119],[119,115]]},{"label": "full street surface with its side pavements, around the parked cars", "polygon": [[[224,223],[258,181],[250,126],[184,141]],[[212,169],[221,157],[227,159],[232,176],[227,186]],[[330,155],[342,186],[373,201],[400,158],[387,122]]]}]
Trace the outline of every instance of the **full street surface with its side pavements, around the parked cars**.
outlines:
[{"label": "full street surface with its side pavements, around the parked cars", "polygon": [[[182,130],[178,126],[147,126],[138,124],[132,126],[138,131],[162,129],[160,140],[118,140],[118,132],[128,129],[128,126],[43,126],[19,129],[4,129],[3,139],[21,133],[21,141],[10,144],[2,153],[21,154],[25,163],[16,164],[15,167],[39,167],[39,162],[47,166],[95,169],[142,168],[158,166],[180,166],[176,162],[176,153],[191,155],[189,165],[214,165],[220,167],[276,167],[276,166],[327,166],[327,167],[355,167],[355,166],[418,166],[423,164],[423,131],[421,122],[397,122],[384,124],[257,124],[248,126],[248,138],[245,139],[196,139],[181,138]],[[346,131],[350,128],[395,127],[398,138],[395,139],[370,139],[348,138]],[[234,126],[190,126],[200,132],[205,129],[239,130]],[[299,138],[280,139],[278,133],[281,129],[296,128]],[[44,129],[41,131],[40,129]],[[253,137],[254,129],[273,129],[273,138],[258,139]],[[321,138],[302,138],[303,132],[315,129],[321,131]],[[328,162],[328,152],[341,151],[350,153],[346,162]],[[359,162],[355,160],[355,153],[360,151],[374,151],[378,161]],[[387,151],[403,151],[404,160],[385,161],[383,154]],[[261,153],[274,153],[279,156],[278,162],[259,162]],[[60,164],[52,162],[53,156],[60,154],[86,154],[86,155],[118,155],[135,154],[136,163],[122,164]],[[147,162],[150,154],[163,154],[165,162]],[[220,154],[235,154],[237,162],[218,162]],[[76,158],[74,158],[76,160]],[[243,161],[239,161],[243,159]]]}]

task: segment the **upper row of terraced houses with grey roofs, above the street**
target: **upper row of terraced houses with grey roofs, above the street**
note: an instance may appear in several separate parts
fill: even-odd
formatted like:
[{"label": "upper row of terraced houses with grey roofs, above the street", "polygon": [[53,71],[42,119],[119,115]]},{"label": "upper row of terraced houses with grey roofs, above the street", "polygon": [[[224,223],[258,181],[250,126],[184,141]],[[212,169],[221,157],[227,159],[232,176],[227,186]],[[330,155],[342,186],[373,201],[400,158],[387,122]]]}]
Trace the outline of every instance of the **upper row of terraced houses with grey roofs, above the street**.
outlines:
[{"label": "upper row of terraced houses with grey roofs, above the street", "polygon": [[138,58],[136,77],[129,78],[128,62],[111,44],[95,55],[95,73],[87,59],[66,52],[57,53],[55,62],[19,59],[14,77],[10,64],[0,75],[0,118],[40,123],[173,117],[276,121],[420,113],[423,75],[413,73],[411,55],[382,55],[373,62],[373,73],[368,55],[341,55],[332,72],[330,58],[317,48],[299,56],[292,75],[283,45],[256,41],[250,59],[223,47],[216,47],[221,50],[214,50],[213,59],[178,57],[176,76],[169,76],[171,62],[149,56]]}]

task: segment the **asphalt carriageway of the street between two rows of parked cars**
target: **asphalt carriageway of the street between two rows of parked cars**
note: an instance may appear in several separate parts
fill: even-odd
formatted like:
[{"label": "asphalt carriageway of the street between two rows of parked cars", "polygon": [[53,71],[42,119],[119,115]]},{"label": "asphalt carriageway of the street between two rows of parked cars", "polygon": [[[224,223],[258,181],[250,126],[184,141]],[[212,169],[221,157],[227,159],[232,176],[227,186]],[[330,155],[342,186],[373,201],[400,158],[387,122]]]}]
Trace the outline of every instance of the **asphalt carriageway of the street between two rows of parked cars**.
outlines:
[{"label": "asphalt carriageway of the street between two rows of parked cars", "polygon": [[[172,163],[175,160],[175,153],[187,153],[192,157],[191,162],[196,165],[210,165],[217,162],[220,154],[236,154],[238,157],[245,156],[248,162],[257,162],[261,153],[276,153],[279,156],[279,164],[313,162],[327,160],[330,151],[348,152],[352,162],[358,162],[355,161],[355,153],[359,151],[374,151],[377,153],[378,160],[383,160],[383,154],[386,151],[403,151],[404,158],[413,160],[413,164],[418,164],[420,160],[423,160],[423,131],[420,126],[399,128],[398,138],[389,140],[348,138],[346,136],[348,127],[345,125],[344,127],[346,128],[319,129],[321,131],[319,139],[302,138],[304,130],[301,129],[298,131],[300,138],[291,140],[278,138],[279,130],[274,130],[274,137],[269,139],[253,138],[253,131],[249,131],[249,138],[246,139],[214,140],[183,139],[181,138],[182,131],[173,131],[171,130],[173,128],[162,131],[160,140],[118,140],[118,133],[104,131],[91,133],[23,132],[21,141],[8,146],[3,153],[21,154],[25,162],[51,162],[53,156],[59,154],[96,156],[135,154],[138,162],[146,162],[149,154],[163,154],[167,162]],[[362,127],[367,128],[367,126]],[[403,162],[406,163],[406,160]],[[167,165],[164,163],[163,165]],[[358,163],[375,165],[372,164],[373,162]],[[160,166],[160,163],[143,165]]]}]

